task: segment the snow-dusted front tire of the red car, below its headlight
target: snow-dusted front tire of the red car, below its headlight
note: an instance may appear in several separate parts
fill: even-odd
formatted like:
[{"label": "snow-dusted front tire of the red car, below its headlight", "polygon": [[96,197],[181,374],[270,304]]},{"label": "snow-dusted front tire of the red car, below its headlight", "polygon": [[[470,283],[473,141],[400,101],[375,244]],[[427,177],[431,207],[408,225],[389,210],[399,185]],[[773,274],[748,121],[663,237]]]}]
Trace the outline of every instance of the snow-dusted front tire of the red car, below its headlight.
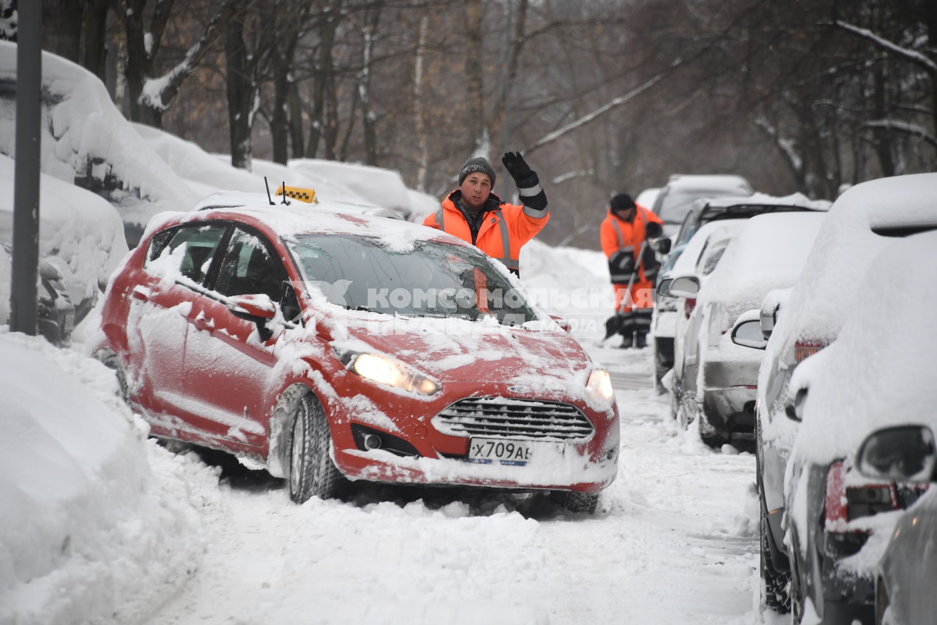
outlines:
[{"label": "snow-dusted front tire of the red car, below its headlight", "polygon": [[332,433],[319,400],[305,395],[296,403],[290,419],[290,499],[296,503],[315,496],[335,497],[341,472],[335,467],[329,448]]}]

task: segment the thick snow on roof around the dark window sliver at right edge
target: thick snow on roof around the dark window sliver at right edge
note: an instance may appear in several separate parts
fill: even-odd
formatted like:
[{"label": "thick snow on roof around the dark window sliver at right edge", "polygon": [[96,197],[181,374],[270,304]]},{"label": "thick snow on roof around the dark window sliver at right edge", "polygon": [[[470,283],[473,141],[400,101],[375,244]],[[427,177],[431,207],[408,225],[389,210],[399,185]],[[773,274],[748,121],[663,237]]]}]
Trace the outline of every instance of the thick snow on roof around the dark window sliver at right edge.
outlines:
[{"label": "thick snow on roof around the dark window sliver at right edge", "polygon": [[799,338],[835,338],[847,302],[872,259],[894,240],[872,229],[928,224],[937,226],[937,173],[872,180],[843,193],[817,235],[772,343],[779,341],[778,349],[789,349]]}]

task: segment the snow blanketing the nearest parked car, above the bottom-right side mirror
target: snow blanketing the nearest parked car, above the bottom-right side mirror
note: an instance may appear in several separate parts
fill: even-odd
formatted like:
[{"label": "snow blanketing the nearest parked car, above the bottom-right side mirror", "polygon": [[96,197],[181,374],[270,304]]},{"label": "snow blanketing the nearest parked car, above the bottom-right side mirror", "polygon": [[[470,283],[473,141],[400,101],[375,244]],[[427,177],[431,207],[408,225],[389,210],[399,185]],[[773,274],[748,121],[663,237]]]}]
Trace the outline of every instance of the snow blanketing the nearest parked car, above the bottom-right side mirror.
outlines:
[{"label": "snow blanketing the nearest parked car, above the bottom-right side mirror", "polygon": [[855,454],[872,430],[926,424],[937,432],[933,323],[937,232],[892,240],[869,264],[836,341],[799,365],[810,392],[795,454]]}]

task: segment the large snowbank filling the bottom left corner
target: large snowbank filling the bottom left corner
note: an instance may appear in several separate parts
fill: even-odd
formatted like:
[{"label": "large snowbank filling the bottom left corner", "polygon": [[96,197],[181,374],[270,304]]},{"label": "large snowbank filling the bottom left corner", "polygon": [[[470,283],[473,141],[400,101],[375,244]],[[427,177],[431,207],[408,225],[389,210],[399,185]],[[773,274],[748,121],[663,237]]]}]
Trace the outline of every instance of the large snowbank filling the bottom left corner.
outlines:
[{"label": "large snowbank filling the bottom left corner", "polygon": [[194,573],[216,477],[146,439],[97,361],[0,335],[0,622],[134,623]]}]

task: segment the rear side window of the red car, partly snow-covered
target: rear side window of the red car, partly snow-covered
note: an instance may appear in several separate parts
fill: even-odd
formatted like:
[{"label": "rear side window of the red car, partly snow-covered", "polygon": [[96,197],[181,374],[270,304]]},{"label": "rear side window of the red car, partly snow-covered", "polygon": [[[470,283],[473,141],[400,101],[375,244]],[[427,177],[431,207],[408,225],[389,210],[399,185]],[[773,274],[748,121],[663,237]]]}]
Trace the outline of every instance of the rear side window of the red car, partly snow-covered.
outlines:
[{"label": "rear side window of the red car, partly snow-covered", "polygon": [[182,277],[201,285],[227,230],[227,224],[218,223],[192,224],[171,231],[169,243],[158,251],[151,243],[150,253],[153,256],[147,268],[172,279]]}]

